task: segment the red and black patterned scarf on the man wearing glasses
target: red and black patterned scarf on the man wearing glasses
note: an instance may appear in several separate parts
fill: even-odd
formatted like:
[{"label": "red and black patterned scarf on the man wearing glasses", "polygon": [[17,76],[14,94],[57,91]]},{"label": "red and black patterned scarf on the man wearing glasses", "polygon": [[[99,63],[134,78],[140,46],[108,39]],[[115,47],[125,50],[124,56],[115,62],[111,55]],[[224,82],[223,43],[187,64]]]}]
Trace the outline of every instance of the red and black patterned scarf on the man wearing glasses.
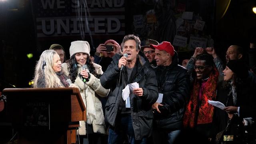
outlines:
[{"label": "red and black patterned scarf on the man wearing glasses", "polygon": [[[206,80],[204,89],[201,89],[201,81],[197,79],[195,80],[190,100],[183,117],[185,128],[194,128],[196,124],[208,124],[212,122],[214,106],[208,104],[208,100],[216,99],[218,76],[218,70],[214,66],[213,72],[210,73],[210,77]],[[199,92],[202,92],[202,97],[200,98],[201,102],[199,102]]]}]

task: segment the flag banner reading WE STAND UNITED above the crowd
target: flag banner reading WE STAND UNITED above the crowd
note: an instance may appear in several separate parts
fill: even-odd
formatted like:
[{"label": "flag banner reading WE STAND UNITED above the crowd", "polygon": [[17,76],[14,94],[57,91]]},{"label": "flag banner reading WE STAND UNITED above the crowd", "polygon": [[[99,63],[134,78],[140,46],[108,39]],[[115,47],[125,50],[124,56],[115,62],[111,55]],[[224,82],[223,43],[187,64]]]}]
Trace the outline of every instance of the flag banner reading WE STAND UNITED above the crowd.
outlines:
[{"label": "flag banner reading WE STAND UNITED above the crowd", "polygon": [[38,38],[125,34],[124,0],[31,0]]}]

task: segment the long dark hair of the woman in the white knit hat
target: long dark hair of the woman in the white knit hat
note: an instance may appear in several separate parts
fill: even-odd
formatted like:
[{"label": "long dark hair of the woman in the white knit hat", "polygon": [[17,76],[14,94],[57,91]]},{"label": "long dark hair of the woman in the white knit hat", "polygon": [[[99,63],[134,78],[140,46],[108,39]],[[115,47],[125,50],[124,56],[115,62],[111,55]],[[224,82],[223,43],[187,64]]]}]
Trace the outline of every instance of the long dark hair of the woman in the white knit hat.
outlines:
[{"label": "long dark hair of the woman in the white knit hat", "polygon": [[[76,54],[73,54],[69,60],[67,60],[68,64],[68,70],[69,70],[69,77],[72,83],[75,82],[76,76],[78,74],[78,67],[76,62]],[[93,74],[96,78],[100,78],[101,74],[97,74],[96,70],[92,64],[92,61],[90,60],[90,57],[87,55],[86,65],[88,66],[88,69],[90,70],[90,73]]]}]

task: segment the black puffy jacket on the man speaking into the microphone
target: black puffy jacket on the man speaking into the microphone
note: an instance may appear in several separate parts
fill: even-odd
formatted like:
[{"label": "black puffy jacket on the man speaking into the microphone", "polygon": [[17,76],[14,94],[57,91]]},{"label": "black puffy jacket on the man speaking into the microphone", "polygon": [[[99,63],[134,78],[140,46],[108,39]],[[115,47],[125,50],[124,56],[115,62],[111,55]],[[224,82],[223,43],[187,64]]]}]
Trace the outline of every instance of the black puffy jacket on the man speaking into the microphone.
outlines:
[{"label": "black puffy jacket on the man speaking into the microphone", "polygon": [[118,106],[122,99],[122,90],[126,84],[138,82],[140,88],[143,88],[143,96],[131,94],[130,105],[135,138],[140,140],[149,136],[152,131],[153,112],[151,106],[158,98],[156,75],[145,55],[139,52],[134,66],[137,69],[136,74],[132,72],[130,76],[132,79],[128,82],[126,67],[123,68],[120,77],[118,60],[121,57],[119,54],[116,54],[106,72],[100,77],[102,86],[110,89],[105,106],[105,121],[111,126],[115,126],[116,116],[119,114]]}]

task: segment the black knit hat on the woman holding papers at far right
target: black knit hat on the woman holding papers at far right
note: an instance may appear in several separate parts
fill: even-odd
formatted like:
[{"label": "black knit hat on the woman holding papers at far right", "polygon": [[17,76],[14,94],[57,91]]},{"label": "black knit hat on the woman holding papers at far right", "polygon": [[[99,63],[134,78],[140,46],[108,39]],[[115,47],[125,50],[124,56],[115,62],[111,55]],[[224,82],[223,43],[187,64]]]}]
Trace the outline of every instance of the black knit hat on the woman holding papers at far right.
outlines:
[{"label": "black knit hat on the woman holding papers at far right", "polygon": [[244,79],[248,77],[248,70],[246,64],[241,60],[230,60],[227,67],[236,74],[238,78]]}]

